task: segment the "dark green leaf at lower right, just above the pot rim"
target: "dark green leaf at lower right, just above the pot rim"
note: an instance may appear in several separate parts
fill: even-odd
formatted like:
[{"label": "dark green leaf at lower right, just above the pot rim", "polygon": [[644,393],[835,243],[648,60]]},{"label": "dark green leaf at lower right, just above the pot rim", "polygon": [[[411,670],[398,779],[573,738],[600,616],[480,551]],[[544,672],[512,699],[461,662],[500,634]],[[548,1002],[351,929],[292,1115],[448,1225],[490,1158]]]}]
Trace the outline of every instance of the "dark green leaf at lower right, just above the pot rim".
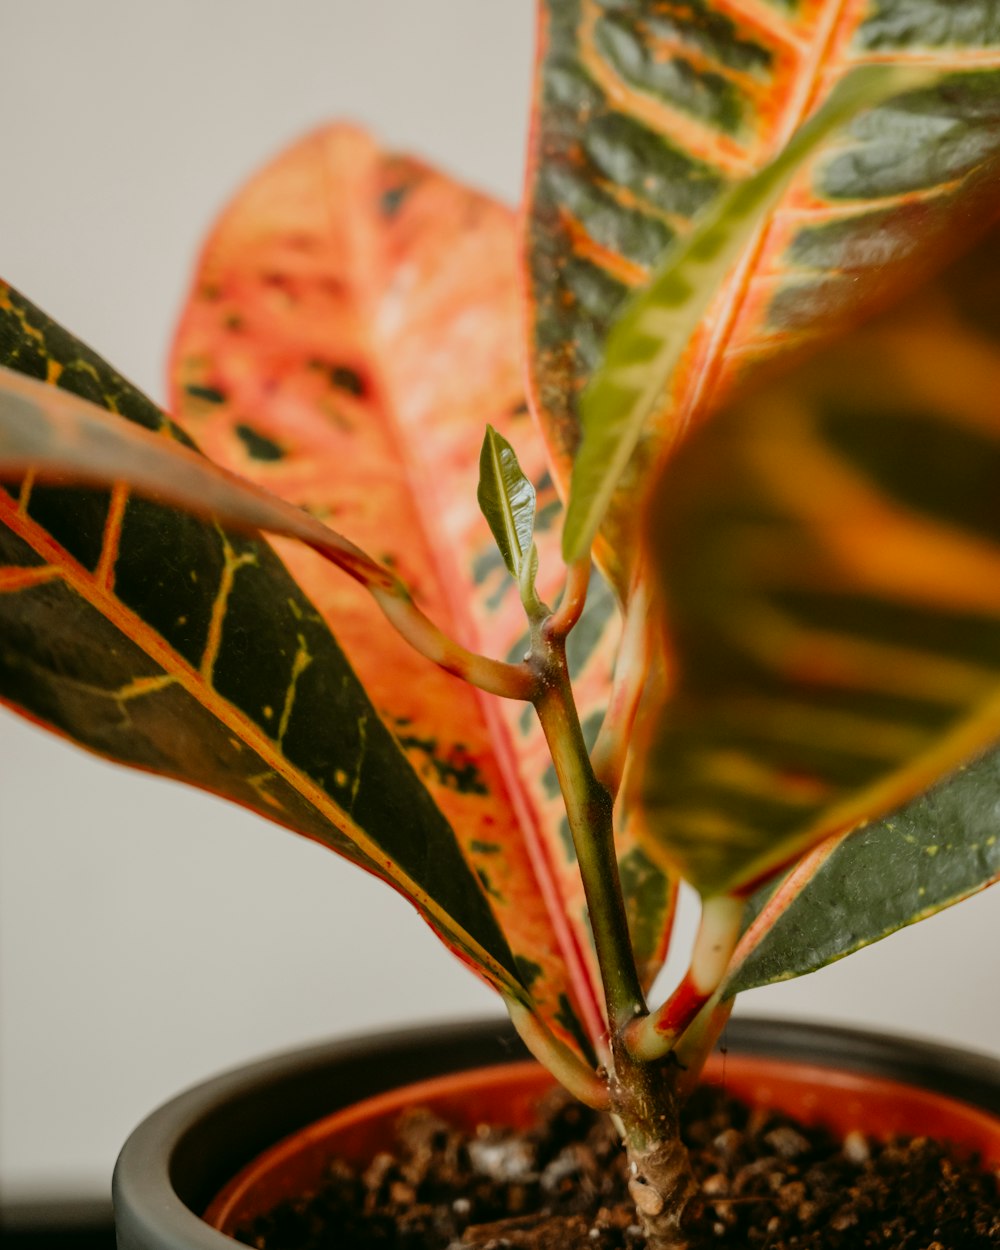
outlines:
[{"label": "dark green leaf at lower right, just above the pot rim", "polygon": [[994,750],[894,815],[820,842],[759,908],[722,995],[814,972],[1000,880],[999,806]]}]

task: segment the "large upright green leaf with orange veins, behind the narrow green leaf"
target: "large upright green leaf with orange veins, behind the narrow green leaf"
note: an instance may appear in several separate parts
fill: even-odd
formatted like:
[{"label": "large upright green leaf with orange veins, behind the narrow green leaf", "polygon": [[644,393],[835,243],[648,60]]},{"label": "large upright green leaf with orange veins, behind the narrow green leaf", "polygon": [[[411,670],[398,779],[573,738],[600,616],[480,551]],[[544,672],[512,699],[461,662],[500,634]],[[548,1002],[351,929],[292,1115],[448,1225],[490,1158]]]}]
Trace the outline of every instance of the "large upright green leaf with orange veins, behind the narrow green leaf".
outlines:
[{"label": "large upright green leaf with orange veins, behind the narrow green leaf", "polygon": [[[726,189],[761,169],[858,66],[939,88],[866,114],[798,179],[715,292],[599,548],[624,589],[646,459],[758,361],[829,334],[954,232],[995,158],[1000,32],[989,5],[545,0],[525,235],[532,402],[561,494],[580,394],[630,291]],[[960,230],[960,228],[959,228]]]}]

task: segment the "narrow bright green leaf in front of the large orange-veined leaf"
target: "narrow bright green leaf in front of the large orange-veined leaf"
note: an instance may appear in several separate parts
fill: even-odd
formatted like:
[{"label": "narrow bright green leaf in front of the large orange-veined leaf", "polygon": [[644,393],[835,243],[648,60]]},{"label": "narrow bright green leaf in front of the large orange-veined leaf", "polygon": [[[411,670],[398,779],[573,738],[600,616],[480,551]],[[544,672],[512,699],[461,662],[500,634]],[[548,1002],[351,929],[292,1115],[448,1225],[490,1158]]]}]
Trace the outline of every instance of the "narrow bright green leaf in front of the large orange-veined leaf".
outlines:
[{"label": "narrow bright green leaf in front of the large orange-veined leaf", "polygon": [[926,72],[868,66],[840,82],[785,150],[722,194],[625,306],[582,396],[584,441],[572,469],[562,551],[589,549],[670,376],[718,289],[802,164],[862,109],[925,85]]}]

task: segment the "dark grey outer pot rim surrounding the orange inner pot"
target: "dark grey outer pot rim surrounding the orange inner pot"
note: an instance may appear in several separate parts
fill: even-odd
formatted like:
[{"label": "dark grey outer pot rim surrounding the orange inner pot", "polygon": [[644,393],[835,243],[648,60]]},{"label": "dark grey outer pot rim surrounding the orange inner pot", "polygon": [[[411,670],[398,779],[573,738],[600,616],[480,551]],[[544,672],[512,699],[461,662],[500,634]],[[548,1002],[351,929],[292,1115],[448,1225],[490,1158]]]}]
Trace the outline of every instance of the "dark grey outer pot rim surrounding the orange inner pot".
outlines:
[{"label": "dark grey outer pot rim surrounding the orange inner pot", "polygon": [[[1000,1060],[988,1055],[754,1018],[732,1020],[724,1045],[920,1085],[1000,1115]],[[231,1250],[198,1212],[268,1146],[371,1094],[524,1058],[509,1024],[465,1021],[308,1046],[204,1081],[154,1111],[122,1148],[112,1182],[119,1250]]]}]

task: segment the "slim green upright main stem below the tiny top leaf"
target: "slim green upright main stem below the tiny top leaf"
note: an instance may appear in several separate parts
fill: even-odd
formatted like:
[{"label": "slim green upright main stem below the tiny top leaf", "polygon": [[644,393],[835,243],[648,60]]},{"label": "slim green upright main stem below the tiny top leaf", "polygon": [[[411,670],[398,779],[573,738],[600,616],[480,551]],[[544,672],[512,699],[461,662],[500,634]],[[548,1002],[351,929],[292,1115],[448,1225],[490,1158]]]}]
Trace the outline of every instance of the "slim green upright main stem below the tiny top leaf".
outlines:
[{"label": "slim green upright main stem below the tiny top leaf", "polygon": [[552,638],[548,624],[532,628],[534,702],[566,805],[614,1036],[645,1011],[645,1000],[621,895],[611,796],[590,766],[566,670],[565,640]]}]

